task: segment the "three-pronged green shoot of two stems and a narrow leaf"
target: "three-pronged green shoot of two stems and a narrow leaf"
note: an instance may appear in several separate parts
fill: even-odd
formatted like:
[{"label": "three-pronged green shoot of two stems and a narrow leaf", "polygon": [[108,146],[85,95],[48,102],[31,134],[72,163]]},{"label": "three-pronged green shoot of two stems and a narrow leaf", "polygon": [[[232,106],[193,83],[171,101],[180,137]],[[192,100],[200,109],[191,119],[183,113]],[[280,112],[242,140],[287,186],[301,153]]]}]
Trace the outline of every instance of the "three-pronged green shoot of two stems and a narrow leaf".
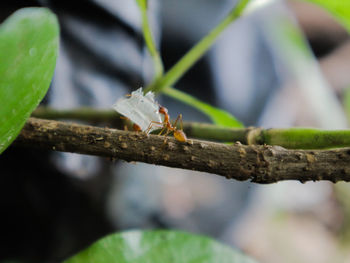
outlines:
[{"label": "three-pronged green shoot of two stems and a narrow leaf", "polygon": [[151,28],[147,18],[147,1],[136,0],[141,10],[143,35],[148,51],[153,59],[155,77],[153,82],[146,87],[145,92],[163,92],[174,99],[188,104],[200,112],[207,115],[213,123],[233,128],[244,127],[231,113],[219,108],[208,105],[191,95],[172,88],[173,86],[215,43],[220,34],[243,13],[244,8],[249,0],[240,0],[229,14],[206,36],[203,37],[196,45],[194,45],[168,72],[163,74],[163,64],[154,38],[152,37]]}]

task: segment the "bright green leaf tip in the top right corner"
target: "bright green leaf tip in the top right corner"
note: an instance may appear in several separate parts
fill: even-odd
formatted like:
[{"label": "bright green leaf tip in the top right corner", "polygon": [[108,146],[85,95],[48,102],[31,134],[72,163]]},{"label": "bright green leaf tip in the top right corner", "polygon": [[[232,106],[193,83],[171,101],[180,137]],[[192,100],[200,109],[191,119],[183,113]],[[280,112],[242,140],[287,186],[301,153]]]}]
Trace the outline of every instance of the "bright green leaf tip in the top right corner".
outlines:
[{"label": "bright green leaf tip in the top right corner", "polygon": [[350,32],[349,0],[304,0],[318,4],[328,10]]}]

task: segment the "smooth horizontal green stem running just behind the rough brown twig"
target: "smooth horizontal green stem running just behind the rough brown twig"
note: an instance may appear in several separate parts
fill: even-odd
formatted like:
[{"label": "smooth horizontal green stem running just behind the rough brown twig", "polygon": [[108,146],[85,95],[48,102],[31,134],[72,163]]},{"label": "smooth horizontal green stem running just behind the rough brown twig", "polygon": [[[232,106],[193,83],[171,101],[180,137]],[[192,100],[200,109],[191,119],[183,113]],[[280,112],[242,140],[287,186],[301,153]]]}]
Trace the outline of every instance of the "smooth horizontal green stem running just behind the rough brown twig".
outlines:
[{"label": "smooth horizontal green stem running just behind the rough brown twig", "polygon": [[[75,119],[109,123],[122,121],[115,111],[97,111],[91,108],[54,110],[39,107],[33,112],[32,116],[47,119]],[[240,141],[242,144],[279,145],[287,149],[350,147],[350,130],[260,129],[254,127],[239,129],[195,122],[184,122],[183,128],[190,138],[221,142]]]}]

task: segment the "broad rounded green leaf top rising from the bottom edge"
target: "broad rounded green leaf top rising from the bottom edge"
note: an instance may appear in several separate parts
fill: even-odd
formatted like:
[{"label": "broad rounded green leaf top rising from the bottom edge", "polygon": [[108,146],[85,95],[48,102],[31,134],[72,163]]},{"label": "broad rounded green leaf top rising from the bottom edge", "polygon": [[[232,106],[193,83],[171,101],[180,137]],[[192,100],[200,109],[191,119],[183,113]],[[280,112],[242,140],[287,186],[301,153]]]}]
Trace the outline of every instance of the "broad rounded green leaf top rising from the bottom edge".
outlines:
[{"label": "broad rounded green leaf top rising from the bottom edge", "polygon": [[206,237],[176,231],[127,231],[107,236],[64,263],[254,263]]}]

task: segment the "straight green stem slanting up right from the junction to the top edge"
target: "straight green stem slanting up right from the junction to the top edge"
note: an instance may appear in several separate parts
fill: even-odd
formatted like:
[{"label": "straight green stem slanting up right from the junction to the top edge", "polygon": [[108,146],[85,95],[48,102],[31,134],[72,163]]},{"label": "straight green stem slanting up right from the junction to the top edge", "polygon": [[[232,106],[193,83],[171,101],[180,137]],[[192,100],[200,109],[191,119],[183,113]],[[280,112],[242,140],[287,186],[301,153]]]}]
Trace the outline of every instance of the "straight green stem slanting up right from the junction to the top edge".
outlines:
[{"label": "straight green stem slanting up right from the junction to the top edge", "polygon": [[193,66],[208,49],[214,44],[218,36],[226,29],[231,22],[239,18],[248,4],[249,0],[241,0],[232,11],[217,25],[208,35],[199,41],[190,51],[187,52],[163,77],[155,79],[145,92],[160,92],[166,87],[172,86]]}]

